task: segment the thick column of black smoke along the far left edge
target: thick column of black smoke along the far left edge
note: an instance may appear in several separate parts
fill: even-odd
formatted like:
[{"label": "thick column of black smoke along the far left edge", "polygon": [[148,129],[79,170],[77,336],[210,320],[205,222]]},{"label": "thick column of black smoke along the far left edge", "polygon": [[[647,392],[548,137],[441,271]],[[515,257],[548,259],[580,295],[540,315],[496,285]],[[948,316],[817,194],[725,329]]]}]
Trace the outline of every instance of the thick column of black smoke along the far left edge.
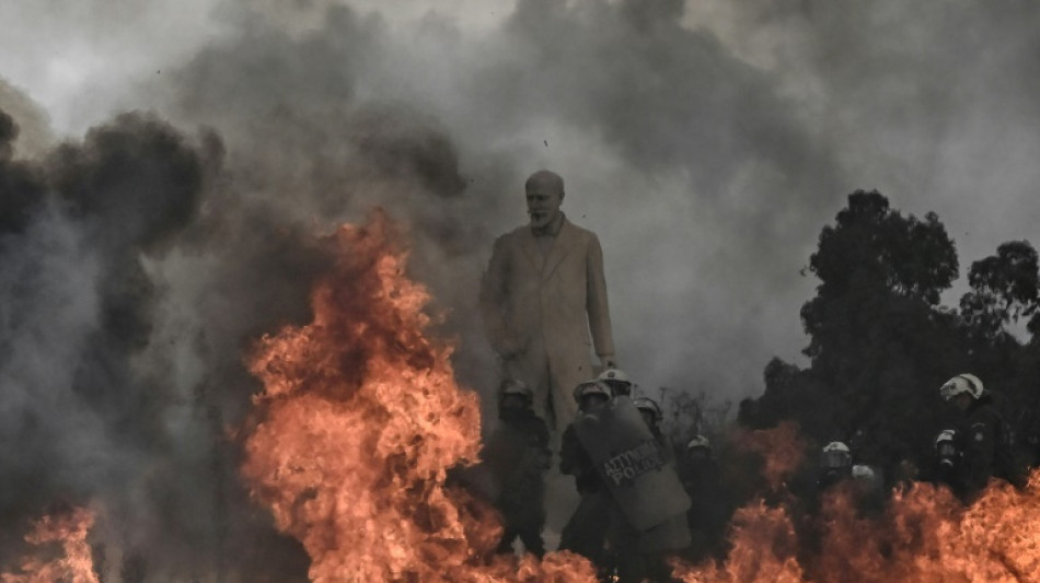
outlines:
[{"label": "thick column of black smoke along the far left edge", "polygon": [[[0,164],[4,524],[62,501],[129,518],[143,467],[176,473],[152,460],[167,392],[132,359],[159,300],[142,260],[193,219],[200,158],[169,125],[128,114],[49,160]],[[4,553],[18,533],[4,529]]]}]

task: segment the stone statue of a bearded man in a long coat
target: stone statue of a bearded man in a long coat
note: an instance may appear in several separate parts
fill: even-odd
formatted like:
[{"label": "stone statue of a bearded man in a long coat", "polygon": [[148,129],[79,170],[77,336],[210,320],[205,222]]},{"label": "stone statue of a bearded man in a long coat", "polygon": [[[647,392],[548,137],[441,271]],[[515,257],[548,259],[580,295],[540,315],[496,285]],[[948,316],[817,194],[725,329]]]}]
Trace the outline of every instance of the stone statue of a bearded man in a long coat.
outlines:
[{"label": "stone statue of a bearded man in a long coat", "polygon": [[596,375],[590,343],[602,366],[615,365],[603,250],[559,210],[559,175],[535,172],[524,189],[531,222],[495,242],[481,311],[504,375],[533,388],[535,411],[559,431],[574,418],[574,388]]}]

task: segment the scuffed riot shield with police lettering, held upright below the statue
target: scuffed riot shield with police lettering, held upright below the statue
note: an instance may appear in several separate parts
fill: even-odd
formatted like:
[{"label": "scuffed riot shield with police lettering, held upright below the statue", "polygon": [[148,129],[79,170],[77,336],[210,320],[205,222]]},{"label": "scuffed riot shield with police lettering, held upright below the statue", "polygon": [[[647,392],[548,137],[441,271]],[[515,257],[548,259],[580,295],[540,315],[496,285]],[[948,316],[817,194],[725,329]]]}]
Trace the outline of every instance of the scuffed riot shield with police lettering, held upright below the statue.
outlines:
[{"label": "scuffed riot shield with police lettering, held upright below the statue", "polygon": [[617,396],[592,413],[575,417],[585,446],[629,524],[649,530],[690,509],[674,466],[627,396]]}]

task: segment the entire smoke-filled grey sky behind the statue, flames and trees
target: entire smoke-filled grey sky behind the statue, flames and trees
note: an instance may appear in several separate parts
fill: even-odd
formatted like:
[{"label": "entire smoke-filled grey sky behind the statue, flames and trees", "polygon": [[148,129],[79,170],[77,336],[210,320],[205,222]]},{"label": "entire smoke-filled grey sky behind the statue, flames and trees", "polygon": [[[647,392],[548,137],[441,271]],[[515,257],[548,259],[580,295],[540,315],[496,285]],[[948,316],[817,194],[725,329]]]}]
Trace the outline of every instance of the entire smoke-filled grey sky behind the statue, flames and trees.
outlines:
[{"label": "entire smoke-filled grey sky behind the statue, flames and trees", "polygon": [[804,268],[855,189],[936,211],[961,266],[1036,237],[1035,2],[129,4],[0,7],[0,463],[23,486],[0,502],[120,492],[113,536],[173,579],[298,555],[233,477],[242,359],[305,322],[315,236],[373,207],[484,394],[477,284],[543,167],[651,393],[756,395],[798,361]]}]

